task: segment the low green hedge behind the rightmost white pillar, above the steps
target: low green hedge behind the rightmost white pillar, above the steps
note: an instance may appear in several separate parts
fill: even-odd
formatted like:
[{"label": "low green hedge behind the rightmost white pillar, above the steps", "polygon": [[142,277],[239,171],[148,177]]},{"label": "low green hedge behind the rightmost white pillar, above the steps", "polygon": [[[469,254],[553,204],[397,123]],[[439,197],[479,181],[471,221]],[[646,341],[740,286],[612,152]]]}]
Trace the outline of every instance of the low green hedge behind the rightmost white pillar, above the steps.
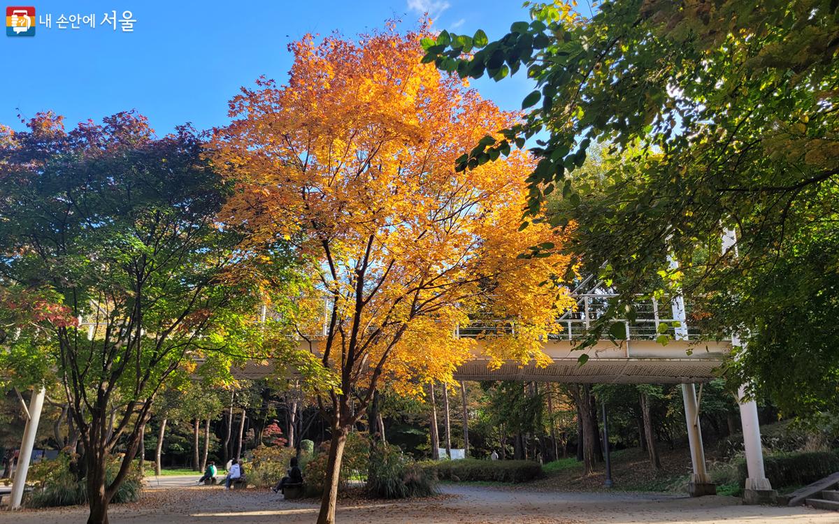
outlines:
[{"label": "low green hedge behind the rightmost white pillar, above the steps", "polygon": [[[794,485],[808,485],[839,471],[836,451],[810,451],[794,454],[774,454],[763,457],[766,478],[775,489]],[[739,464],[739,482],[745,483],[748,470],[745,461]]]}]

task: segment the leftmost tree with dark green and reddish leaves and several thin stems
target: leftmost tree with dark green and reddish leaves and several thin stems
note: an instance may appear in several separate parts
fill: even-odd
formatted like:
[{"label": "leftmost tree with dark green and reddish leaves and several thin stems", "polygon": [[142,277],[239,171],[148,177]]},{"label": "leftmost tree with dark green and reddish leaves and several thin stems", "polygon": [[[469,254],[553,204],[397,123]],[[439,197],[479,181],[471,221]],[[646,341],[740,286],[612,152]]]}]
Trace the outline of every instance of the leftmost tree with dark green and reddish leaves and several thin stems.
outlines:
[{"label": "leftmost tree with dark green and reddish leaves and several thin stems", "polygon": [[10,364],[36,360],[59,377],[91,524],[108,521],[161,385],[196,358],[229,367],[258,346],[265,283],[294,274],[282,249],[256,256],[242,231],[218,225],[230,184],[202,148],[189,127],[155,137],[132,112],[69,132],[44,113],[0,132],[0,283],[47,293],[61,313],[38,306],[49,336]]}]

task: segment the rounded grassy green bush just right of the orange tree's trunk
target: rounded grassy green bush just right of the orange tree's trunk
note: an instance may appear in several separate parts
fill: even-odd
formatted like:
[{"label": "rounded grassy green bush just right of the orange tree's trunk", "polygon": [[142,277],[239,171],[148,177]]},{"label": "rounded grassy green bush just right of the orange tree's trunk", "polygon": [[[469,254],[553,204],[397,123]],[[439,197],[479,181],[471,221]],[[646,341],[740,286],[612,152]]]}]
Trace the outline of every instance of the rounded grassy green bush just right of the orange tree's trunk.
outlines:
[{"label": "rounded grassy green bush just right of the orange tree's trunk", "polygon": [[422,468],[398,446],[378,446],[370,452],[367,493],[384,499],[430,496],[437,491],[435,471]]}]

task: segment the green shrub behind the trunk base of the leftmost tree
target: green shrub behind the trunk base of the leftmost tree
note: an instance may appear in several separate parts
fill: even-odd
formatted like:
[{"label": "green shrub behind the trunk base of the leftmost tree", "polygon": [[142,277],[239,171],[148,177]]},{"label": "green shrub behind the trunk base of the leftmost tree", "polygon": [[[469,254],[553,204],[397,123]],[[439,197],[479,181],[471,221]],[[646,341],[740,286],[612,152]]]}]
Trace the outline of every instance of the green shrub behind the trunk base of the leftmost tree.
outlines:
[{"label": "green shrub behind the trunk base of the leftmost tree", "polygon": [[[117,476],[120,462],[122,459],[114,458],[107,464],[107,482],[111,482]],[[29,507],[87,504],[86,479],[78,479],[70,470],[70,455],[68,454],[62,453],[54,460],[44,460],[34,464],[29,470],[29,479],[36,485],[29,494],[27,501]],[[112,502],[119,504],[139,501],[141,490],[143,490],[143,475],[133,468],[117,488]]]}]

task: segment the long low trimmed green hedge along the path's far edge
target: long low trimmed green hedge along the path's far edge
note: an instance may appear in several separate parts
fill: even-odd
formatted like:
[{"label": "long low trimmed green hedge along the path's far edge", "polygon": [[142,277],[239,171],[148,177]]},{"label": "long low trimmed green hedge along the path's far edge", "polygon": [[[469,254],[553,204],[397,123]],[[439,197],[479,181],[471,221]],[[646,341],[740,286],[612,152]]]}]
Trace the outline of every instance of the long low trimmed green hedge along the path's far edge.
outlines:
[{"label": "long low trimmed green hedge along the path's far edge", "polygon": [[441,460],[423,463],[440,480],[485,480],[489,482],[527,482],[545,476],[542,464],[530,460]]}]

